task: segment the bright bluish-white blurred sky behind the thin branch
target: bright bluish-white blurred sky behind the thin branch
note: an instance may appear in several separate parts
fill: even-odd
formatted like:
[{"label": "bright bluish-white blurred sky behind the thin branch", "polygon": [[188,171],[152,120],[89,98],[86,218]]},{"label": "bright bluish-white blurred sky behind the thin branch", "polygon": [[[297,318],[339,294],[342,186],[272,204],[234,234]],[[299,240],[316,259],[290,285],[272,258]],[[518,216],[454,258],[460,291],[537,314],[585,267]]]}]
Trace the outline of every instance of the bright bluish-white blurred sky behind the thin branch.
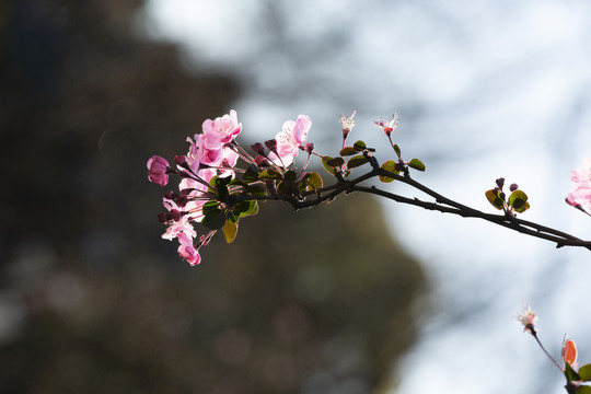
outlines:
[{"label": "bright bluish-white blurred sky behind the thin branch", "polygon": [[[503,176],[530,196],[524,219],[591,239],[590,218],[564,202],[571,170],[591,157],[587,1],[149,0],[141,21],[143,34],[181,43],[187,67],[240,78],[235,109],[253,136],[270,138],[308,114],[309,139],[328,149],[338,115],[357,111],[356,138],[382,148],[373,120],[397,112],[403,154],[427,165],[417,181],[494,212],[484,192]],[[559,372],[514,316],[531,303],[552,354],[568,332],[580,357],[591,355],[589,251],[384,207],[433,288],[393,393],[560,392]]]}]

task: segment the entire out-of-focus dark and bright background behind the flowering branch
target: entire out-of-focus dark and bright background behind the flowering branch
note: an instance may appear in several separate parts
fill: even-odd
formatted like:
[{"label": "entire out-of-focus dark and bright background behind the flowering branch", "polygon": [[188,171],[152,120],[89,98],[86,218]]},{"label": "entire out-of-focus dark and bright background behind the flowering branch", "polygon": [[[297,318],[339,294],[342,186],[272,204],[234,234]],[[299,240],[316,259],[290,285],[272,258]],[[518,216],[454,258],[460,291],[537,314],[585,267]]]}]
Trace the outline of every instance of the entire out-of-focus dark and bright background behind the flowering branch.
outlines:
[{"label": "entire out-of-focus dark and bright background behind the flowering branch", "polygon": [[576,0],[3,2],[3,390],[560,392],[513,317],[531,303],[551,352],[568,332],[590,361],[588,251],[348,196],[266,204],[189,267],[146,161],[230,108],[244,146],[308,114],[327,154],[357,109],[385,161],[372,121],[397,112],[419,182],[491,211],[505,176],[523,218],[590,239],[564,204],[591,155],[590,22]]}]

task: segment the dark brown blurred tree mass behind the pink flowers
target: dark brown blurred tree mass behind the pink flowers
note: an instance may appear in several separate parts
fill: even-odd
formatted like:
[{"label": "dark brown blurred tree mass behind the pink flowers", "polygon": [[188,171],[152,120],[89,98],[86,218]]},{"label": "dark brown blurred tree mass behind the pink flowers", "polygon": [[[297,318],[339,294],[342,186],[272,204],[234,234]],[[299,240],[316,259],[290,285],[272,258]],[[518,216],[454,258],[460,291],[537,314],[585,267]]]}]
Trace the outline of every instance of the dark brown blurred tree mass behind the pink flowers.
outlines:
[{"label": "dark brown blurred tree mass behind the pink flowers", "polygon": [[147,158],[184,151],[240,86],[135,34],[141,4],[0,5],[2,391],[378,390],[425,279],[372,199],[265,204],[197,268],[159,240]]}]

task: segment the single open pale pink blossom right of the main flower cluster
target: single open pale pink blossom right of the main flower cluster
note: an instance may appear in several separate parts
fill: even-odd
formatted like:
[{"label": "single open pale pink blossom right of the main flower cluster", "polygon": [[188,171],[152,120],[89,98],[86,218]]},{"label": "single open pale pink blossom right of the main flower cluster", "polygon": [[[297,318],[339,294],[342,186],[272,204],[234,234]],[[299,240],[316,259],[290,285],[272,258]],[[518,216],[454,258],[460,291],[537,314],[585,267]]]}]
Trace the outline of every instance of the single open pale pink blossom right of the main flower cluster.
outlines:
[{"label": "single open pale pink blossom right of the main flower cluster", "polygon": [[293,163],[293,158],[298,155],[300,147],[308,139],[308,131],[311,127],[312,120],[308,115],[298,115],[297,120],[283,123],[281,132],[275,136],[277,154],[269,153],[269,159],[277,165],[288,166]]}]

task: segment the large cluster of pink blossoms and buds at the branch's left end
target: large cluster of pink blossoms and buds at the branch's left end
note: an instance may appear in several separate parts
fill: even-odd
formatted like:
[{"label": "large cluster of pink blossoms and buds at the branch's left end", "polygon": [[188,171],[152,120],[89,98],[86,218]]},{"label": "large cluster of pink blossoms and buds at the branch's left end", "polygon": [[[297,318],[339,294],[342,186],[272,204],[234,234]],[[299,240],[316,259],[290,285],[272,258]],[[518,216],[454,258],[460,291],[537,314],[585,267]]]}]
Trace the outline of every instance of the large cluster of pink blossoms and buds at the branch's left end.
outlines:
[{"label": "large cluster of pink blossoms and buds at the branch's left end", "polygon": [[266,142],[270,152],[265,153],[263,144],[256,143],[253,150],[258,157],[253,159],[235,142],[236,136],[242,131],[242,124],[237,121],[236,112],[232,109],[222,117],[205,120],[202,132],[196,134],[193,139],[187,138],[190,144],[188,153],[174,158],[175,167],[161,157],[150,158],[147,163],[150,182],[164,186],[170,174],[179,175],[182,178],[179,193],[169,192],[164,195],[163,205],[167,212],[160,213],[159,220],[169,227],[162,237],[177,239],[178,254],[190,265],[199,264],[201,257],[198,250],[209,242],[216,230],[195,242],[197,233],[192,222],[200,222],[204,219],[204,205],[217,198],[209,184],[212,177],[234,177],[240,158],[259,169],[271,165],[286,169],[293,163],[299,150],[311,153],[313,146],[304,146],[311,126],[312,121],[306,115],[286,121],[282,131],[277,134],[274,140]]}]

